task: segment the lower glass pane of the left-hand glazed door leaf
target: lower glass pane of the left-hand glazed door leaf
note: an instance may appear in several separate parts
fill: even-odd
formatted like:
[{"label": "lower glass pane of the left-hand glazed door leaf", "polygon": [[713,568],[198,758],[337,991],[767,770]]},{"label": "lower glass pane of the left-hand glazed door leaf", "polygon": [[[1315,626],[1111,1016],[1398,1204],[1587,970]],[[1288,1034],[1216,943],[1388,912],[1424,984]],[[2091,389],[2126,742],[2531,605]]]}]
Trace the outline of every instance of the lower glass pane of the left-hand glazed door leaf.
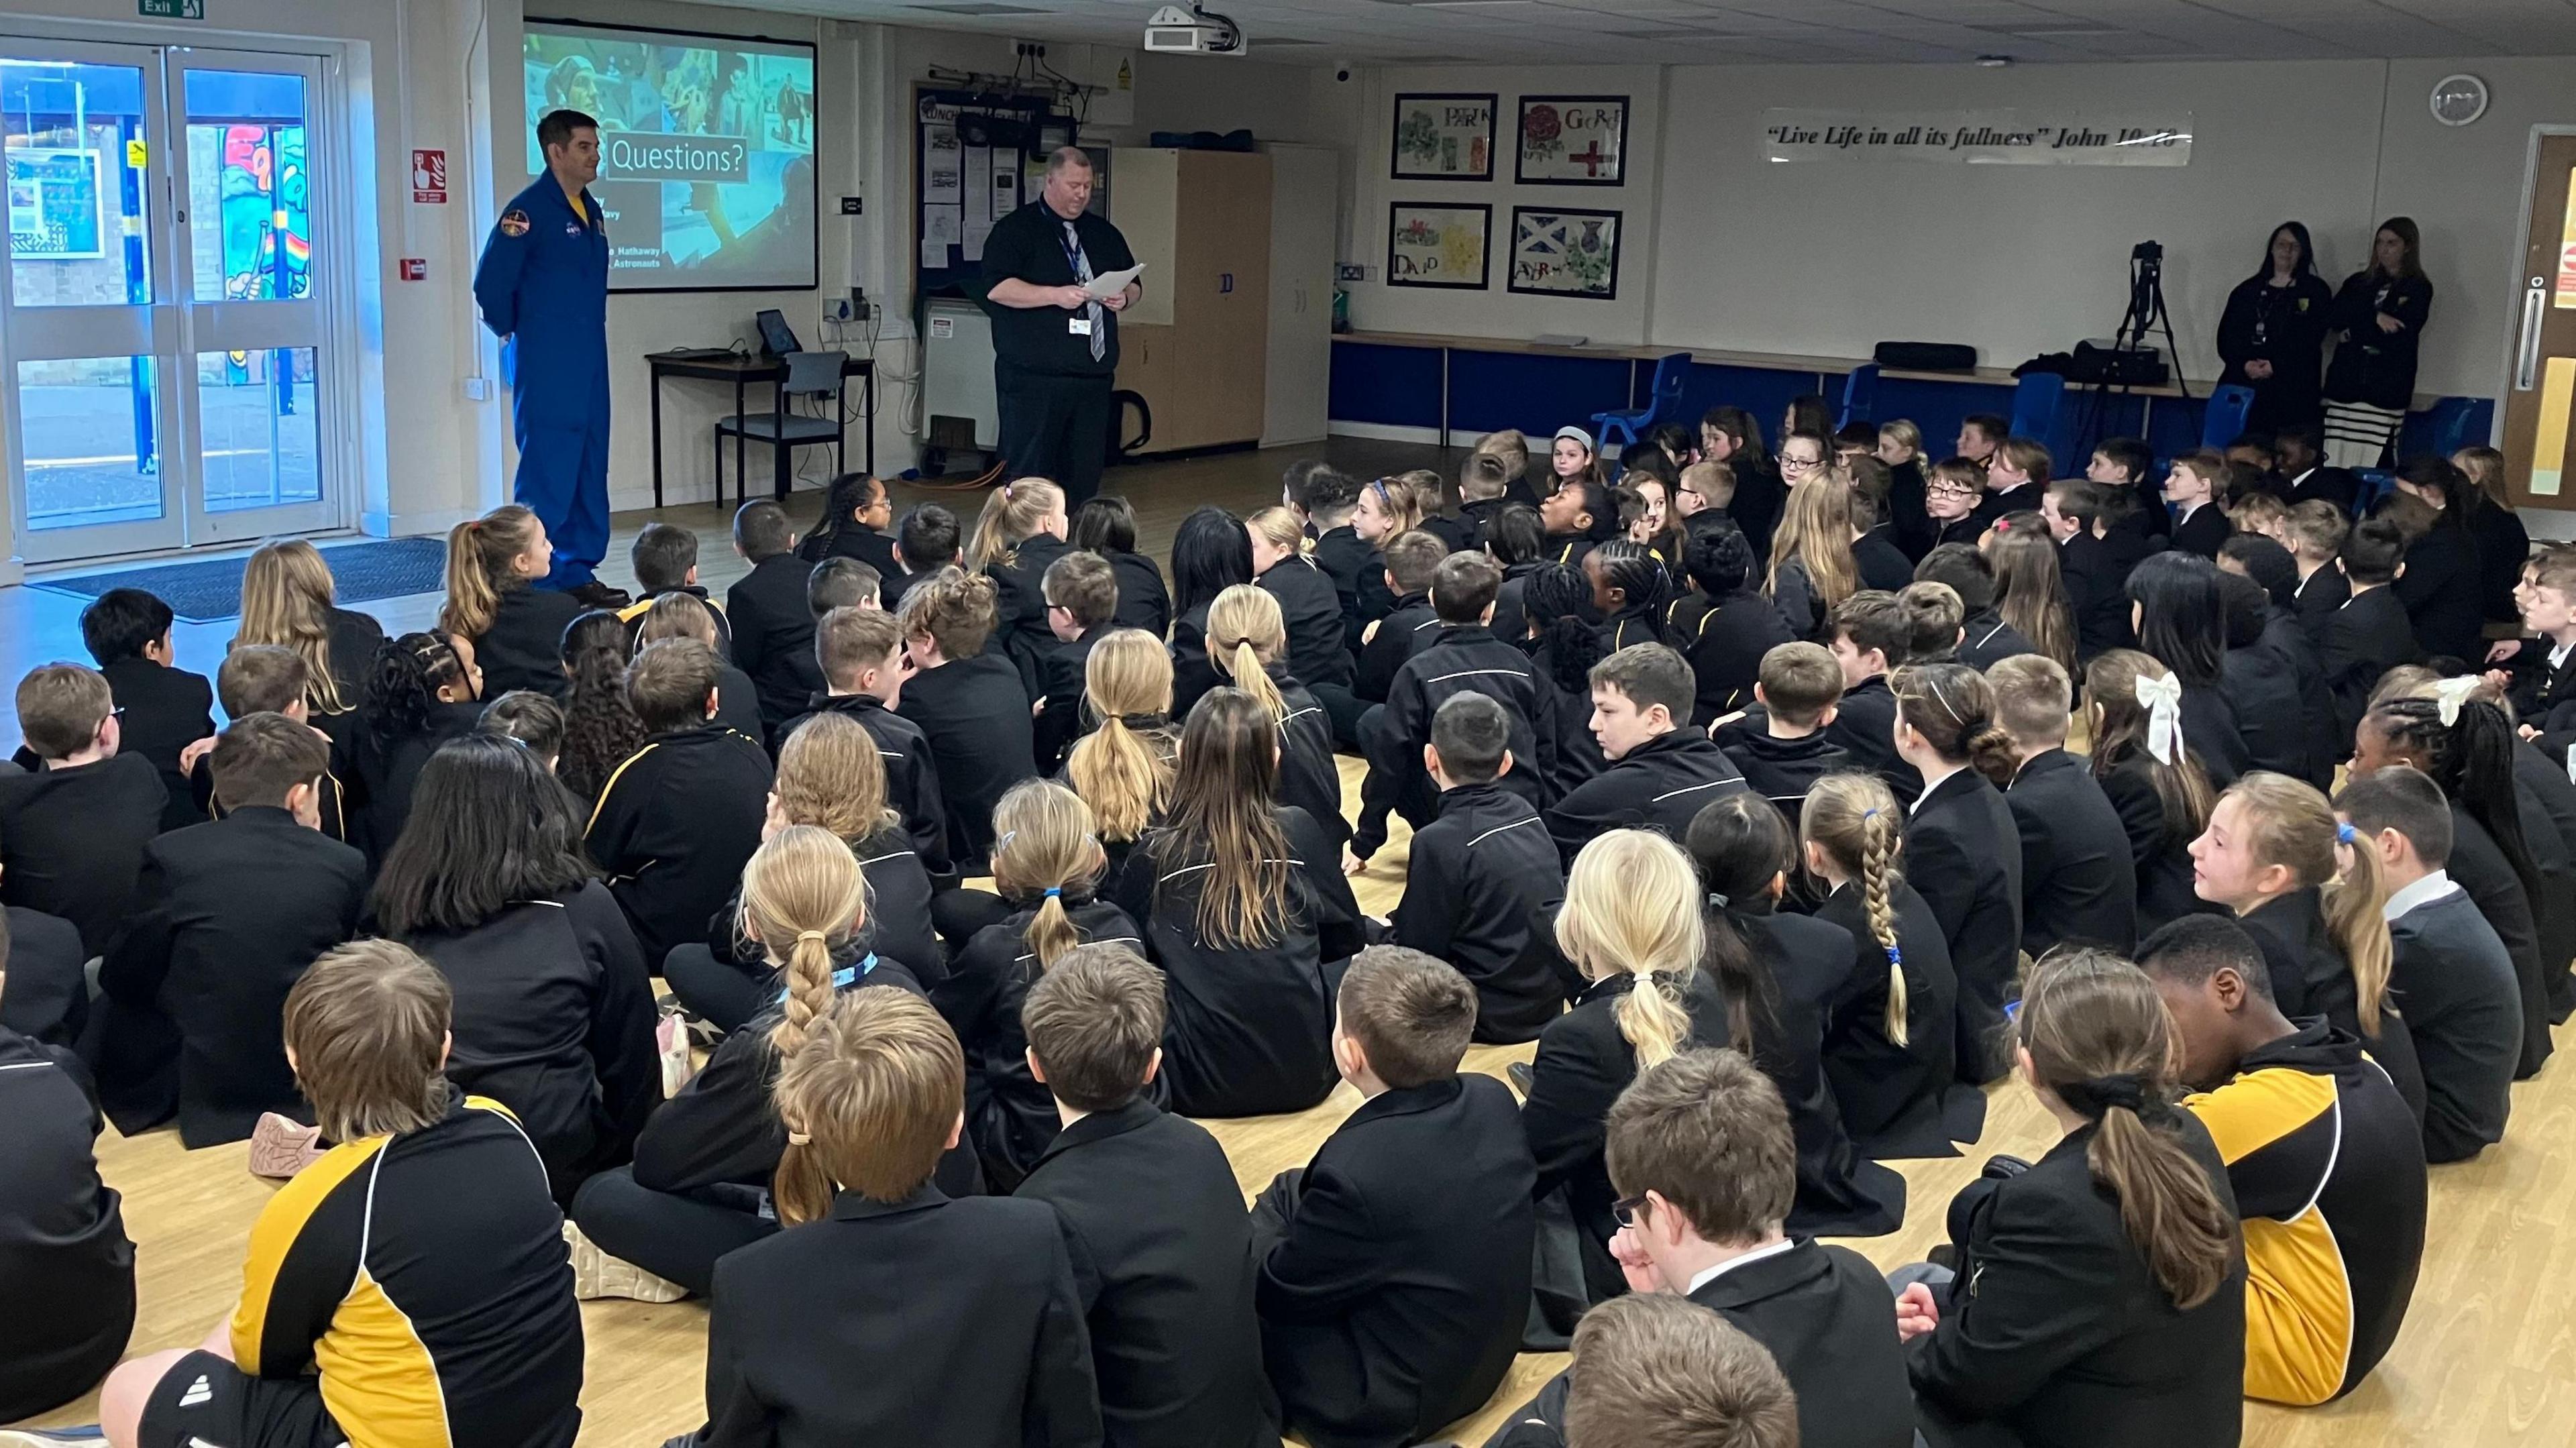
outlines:
[{"label": "lower glass pane of the left-hand glazed door leaf", "polygon": [[152,358],[18,363],[28,528],[162,515]]}]

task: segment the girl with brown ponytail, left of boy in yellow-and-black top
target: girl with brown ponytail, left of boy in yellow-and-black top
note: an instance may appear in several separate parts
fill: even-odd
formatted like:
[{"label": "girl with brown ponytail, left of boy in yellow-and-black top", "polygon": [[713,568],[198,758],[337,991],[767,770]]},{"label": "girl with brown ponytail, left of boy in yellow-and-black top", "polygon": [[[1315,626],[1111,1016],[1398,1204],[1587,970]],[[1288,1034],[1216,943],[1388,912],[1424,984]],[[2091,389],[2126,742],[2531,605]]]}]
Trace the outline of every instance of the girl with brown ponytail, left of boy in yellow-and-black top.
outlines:
[{"label": "girl with brown ponytail, left of boy in yellow-and-black top", "polygon": [[2043,966],[2022,992],[2017,1059],[2066,1139],[1953,1198],[1958,1275],[1896,1299],[1927,1435],[2236,1443],[2236,1193],[2210,1134],[2174,1108],[2177,1051],[2156,987],[2107,953]]}]

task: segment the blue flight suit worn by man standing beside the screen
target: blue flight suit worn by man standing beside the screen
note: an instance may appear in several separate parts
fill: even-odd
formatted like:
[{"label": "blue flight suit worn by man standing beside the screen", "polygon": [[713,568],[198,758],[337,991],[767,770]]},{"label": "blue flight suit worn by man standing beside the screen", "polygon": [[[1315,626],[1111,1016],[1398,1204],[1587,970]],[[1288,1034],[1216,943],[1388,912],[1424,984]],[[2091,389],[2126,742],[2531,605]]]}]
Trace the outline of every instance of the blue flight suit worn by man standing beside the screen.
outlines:
[{"label": "blue flight suit worn by man standing beside the screen", "polygon": [[544,587],[590,582],[608,557],[608,227],[582,191],[585,222],[554,175],[502,206],[474,301],[502,338],[518,497],[554,541]]}]

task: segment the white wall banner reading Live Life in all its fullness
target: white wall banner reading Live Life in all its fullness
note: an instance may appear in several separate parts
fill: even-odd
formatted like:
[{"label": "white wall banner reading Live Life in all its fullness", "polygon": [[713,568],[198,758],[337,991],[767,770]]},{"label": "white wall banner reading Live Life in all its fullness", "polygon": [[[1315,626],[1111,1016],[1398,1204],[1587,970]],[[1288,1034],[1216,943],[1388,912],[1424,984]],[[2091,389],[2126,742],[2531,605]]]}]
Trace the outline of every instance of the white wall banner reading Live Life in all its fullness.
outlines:
[{"label": "white wall banner reading Live Life in all its fullness", "polygon": [[2192,165],[2192,113],[1762,111],[1762,155],[1955,165]]}]

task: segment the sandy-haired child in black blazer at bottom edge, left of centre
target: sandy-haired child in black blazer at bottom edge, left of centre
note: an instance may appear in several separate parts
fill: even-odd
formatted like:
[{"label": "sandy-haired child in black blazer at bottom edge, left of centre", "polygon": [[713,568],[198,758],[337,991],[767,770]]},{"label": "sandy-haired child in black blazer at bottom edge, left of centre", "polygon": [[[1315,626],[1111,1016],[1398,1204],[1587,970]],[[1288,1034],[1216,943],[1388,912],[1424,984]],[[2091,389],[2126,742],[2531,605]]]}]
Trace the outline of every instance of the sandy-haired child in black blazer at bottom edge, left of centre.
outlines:
[{"label": "sandy-haired child in black blazer at bottom edge, left of centre", "polygon": [[930,1180],[966,1105],[948,1023],[863,987],[801,1033],[775,1092],[783,1232],[716,1262],[698,1445],[1100,1443],[1061,1219]]}]

